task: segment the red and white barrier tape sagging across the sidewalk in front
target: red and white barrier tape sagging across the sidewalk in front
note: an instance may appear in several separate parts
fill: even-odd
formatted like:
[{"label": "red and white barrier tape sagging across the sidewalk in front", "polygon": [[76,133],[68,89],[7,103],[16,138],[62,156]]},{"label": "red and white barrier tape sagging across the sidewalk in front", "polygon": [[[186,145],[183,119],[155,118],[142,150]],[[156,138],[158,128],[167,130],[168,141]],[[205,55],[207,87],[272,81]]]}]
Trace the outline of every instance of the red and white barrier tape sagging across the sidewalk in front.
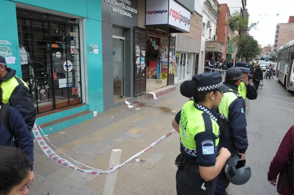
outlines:
[{"label": "red and white barrier tape sagging across the sidewalk in front", "polygon": [[60,150],[58,150],[58,148],[56,148],[52,142],[47,138],[45,137],[50,143],[51,145],[56,148],[61,154],[65,155],[67,158],[71,159],[72,161],[74,161],[75,163],[78,163],[78,164],[82,164],[84,165],[85,167],[87,168],[90,168],[90,169],[81,169],[75,165],[73,165],[71,162],[69,162],[68,160],[64,159],[64,158],[61,158],[58,154],[56,154],[47,144],[46,142],[44,141],[42,135],[40,134],[39,130],[42,132],[43,135],[45,135],[45,133],[43,132],[42,128],[38,125],[37,126],[37,121],[35,121],[35,124],[34,124],[34,127],[32,129],[32,132],[33,132],[33,135],[36,139],[36,141],[38,142],[39,146],[41,147],[42,151],[49,157],[51,158],[52,160],[58,162],[59,164],[62,164],[64,166],[67,166],[69,168],[72,168],[76,171],[81,171],[81,172],[84,172],[84,173],[88,173],[88,174],[92,174],[92,175],[96,175],[96,174],[108,174],[108,173],[111,173],[121,167],[123,167],[125,164],[133,161],[135,158],[137,158],[139,155],[143,154],[145,151],[148,151],[150,148],[154,147],[155,145],[157,145],[159,142],[161,142],[162,140],[164,140],[165,138],[169,137],[170,135],[172,135],[174,132],[175,132],[175,129],[173,129],[172,131],[170,131],[169,133],[163,135],[161,138],[159,138],[158,140],[156,140],[155,142],[153,142],[151,145],[149,145],[147,148],[145,148],[144,150],[140,151],[139,153],[135,154],[134,156],[132,156],[131,158],[129,158],[127,161],[125,161],[124,163],[122,164],[119,164],[115,167],[108,167],[109,170],[108,171],[103,171],[103,170],[100,170],[100,169],[97,169],[97,168],[94,168],[94,167],[90,167],[88,165],[85,165],[81,162],[78,162],[78,161],[75,161],[74,159],[70,158],[69,156],[67,156],[66,154],[64,154],[63,152],[61,152]]}]

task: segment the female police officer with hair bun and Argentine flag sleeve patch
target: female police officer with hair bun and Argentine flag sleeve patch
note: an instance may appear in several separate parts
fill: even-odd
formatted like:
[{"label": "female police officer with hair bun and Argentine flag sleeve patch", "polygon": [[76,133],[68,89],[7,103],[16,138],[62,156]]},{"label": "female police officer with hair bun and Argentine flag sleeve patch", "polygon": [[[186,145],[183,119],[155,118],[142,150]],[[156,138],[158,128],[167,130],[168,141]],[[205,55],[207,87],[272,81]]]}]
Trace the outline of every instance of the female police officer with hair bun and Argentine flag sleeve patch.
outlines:
[{"label": "female police officer with hair bun and Argentine flag sleeve patch", "polygon": [[192,80],[181,84],[180,91],[193,99],[184,104],[172,121],[172,126],[180,133],[182,155],[177,158],[177,194],[213,195],[215,178],[231,153],[226,148],[217,150],[218,116],[211,109],[219,105],[222,91],[229,91],[229,88],[222,84],[221,74],[214,72],[193,76]]}]

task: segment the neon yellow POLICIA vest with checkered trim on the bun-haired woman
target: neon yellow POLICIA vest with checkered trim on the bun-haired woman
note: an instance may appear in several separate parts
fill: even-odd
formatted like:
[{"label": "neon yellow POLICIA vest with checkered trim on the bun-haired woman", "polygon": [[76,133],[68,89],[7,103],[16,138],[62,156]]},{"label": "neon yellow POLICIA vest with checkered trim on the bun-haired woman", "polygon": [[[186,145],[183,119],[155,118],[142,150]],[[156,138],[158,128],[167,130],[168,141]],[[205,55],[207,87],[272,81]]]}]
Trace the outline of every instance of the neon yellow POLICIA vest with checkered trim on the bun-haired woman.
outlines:
[{"label": "neon yellow POLICIA vest with checkered trim on the bun-haired woman", "polygon": [[[201,105],[197,107],[201,109]],[[205,107],[202,107],[202,110],[199,109],[195,108],[193,100],[186,102],[181,111],[179,124],[180,143],[185,152],[192,156],[196,156],[195,135],[205,131],[205,122],[202,116],[203,112],[206,112],[210,116],[209,119],[212,122],[212,131],[215,134],[215,137],[219,135],[219,125],[217,124],[217,119]],[[219,138],[215,139],[215,147],[217,147],[218,144]]]}]

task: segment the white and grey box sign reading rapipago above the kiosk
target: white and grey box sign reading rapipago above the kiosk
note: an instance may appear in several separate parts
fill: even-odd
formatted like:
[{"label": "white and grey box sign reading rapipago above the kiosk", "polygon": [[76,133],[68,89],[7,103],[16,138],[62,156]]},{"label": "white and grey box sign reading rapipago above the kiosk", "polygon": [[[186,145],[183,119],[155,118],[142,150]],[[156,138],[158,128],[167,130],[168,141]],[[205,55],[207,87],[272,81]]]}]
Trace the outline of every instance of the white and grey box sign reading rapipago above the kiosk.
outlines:
[{"label": "white and grey box sign reading rapipago above the kiosk", "polygon": [[174,0],[146,0],[145,26],[169,26],[171,32],[190,32],[191,12]]}]

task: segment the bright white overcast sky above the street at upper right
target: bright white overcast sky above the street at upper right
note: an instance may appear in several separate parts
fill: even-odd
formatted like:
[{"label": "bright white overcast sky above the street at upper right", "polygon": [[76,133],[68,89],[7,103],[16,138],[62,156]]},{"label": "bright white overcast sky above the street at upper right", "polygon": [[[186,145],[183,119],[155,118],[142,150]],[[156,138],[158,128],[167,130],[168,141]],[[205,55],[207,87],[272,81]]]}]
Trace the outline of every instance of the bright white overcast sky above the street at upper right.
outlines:
[{"label": "bright white overcast sky above the street at upper right", "polygon": [[249,12],[249,23],[259,21],[257,29],[249,31],[249,34],[262,47],[273,45],[276,25],[287,23],[289,16],[294,16],[294,0],[247,0],[246,8]]}]

